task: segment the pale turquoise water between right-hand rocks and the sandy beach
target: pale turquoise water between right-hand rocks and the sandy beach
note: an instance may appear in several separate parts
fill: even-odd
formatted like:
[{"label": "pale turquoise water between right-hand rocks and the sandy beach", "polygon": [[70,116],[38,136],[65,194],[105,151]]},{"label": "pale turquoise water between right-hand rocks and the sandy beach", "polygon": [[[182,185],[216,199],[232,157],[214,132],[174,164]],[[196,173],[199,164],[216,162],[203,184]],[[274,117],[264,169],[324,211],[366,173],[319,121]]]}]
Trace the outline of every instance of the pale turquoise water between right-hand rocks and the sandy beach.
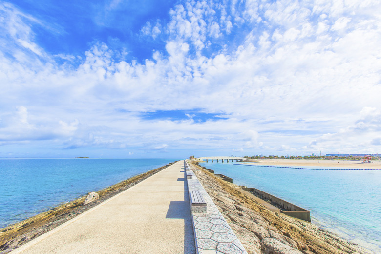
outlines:
[{"label": "pale turquoise water between right-hand rocks and the sandy beach", "polygon": [[381,253],[381,171],[200,165],[310,210],[313,223]]}]

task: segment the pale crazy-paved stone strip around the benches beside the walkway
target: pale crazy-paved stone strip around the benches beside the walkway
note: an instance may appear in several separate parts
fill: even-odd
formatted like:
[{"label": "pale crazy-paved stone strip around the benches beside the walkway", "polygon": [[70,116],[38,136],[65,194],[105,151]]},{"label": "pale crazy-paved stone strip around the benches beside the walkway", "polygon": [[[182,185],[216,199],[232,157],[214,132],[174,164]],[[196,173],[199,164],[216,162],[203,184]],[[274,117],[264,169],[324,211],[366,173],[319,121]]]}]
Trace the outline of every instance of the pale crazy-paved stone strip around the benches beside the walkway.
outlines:
[{"label": "pale crazy-paved stone strip around the benches beside the walkway", "polygon": [[[191,168],[189,165],[186,166]],[[192,179],[187,179],[188,191],[200,191],[207,203],[206,213],[192,212],[197,254],[247,254],[192,170],[190,170]]]}]

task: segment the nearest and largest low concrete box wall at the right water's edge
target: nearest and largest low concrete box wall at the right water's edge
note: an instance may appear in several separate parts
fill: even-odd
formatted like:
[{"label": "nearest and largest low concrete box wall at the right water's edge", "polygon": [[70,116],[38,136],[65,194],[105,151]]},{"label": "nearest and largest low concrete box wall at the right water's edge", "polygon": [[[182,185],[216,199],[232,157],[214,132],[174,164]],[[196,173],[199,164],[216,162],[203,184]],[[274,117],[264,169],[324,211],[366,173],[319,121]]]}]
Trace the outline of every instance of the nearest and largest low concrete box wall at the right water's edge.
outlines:
[{"label": "nearest and largest low concrete box wall at the right water's edge", "polygon": [[270,200],[272,205],[275,205],[276,207],[278,207],[280,209],[280,212],[288,216],[311,222],[310,211],[305,210],[304,208],[298,207],[290,202],[287,202],[283,199],[280,199],[269,193],[266,193],[264,191],[261,191],[255,188],[242,188],[242,189],[253,193],[255,196],[263,200]]}]

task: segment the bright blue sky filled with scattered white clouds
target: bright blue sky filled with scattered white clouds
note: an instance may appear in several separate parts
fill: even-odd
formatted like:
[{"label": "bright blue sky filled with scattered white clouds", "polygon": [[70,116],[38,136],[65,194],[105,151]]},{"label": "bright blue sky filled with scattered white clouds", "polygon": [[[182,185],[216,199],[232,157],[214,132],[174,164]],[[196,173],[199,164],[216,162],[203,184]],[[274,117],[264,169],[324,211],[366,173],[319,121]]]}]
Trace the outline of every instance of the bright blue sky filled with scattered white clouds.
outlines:
[{"label": "bright blue sky filled with scattered white clouds", "polygon": [[0,157],[381,153],[379,0],[0,0]]}]

